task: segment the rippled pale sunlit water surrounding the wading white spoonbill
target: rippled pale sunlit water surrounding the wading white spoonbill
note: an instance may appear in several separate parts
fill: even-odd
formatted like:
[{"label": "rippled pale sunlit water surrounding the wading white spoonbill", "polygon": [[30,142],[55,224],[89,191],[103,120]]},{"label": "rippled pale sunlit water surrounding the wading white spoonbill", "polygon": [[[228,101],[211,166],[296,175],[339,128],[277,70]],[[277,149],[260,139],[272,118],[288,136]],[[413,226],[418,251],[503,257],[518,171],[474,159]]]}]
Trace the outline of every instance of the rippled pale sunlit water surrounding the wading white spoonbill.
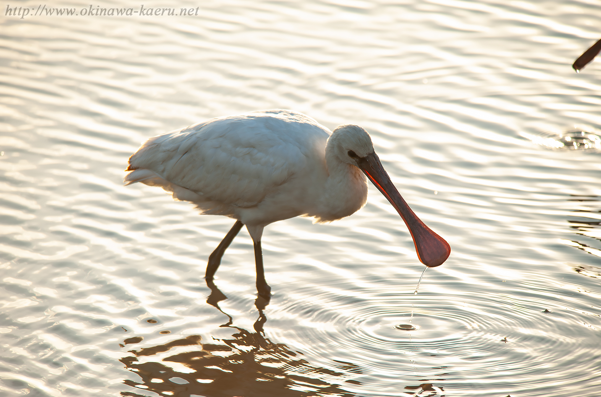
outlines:
[{"label": "rippled pale sunlit water surrounding the wading white spoonbill", "polygon": [[[599,395],[601,62],[571,65],[601,2],[176,7],[198,15],[0,12],[0,394]],[[204,282],[232,220],[122,186],[144,139],[270,108],[371,133],[453,249],[418,294],[373,187],[266,228],[267,305],[245,231]]]}]

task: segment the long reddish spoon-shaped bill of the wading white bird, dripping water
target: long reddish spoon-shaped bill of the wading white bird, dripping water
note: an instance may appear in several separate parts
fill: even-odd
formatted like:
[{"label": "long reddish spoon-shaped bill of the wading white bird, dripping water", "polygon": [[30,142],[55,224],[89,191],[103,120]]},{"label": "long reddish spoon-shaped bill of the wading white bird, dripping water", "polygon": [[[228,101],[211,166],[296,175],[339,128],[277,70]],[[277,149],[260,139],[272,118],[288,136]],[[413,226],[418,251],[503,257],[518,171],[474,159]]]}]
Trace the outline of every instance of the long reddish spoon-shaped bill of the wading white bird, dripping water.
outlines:
[{"label": "long reddish spoon-shaped bill of the wading white bird, dripping water", "polygon": [[430,230],[409,208],[386,174],[377,154],[374,152],[362,157],[357,161],[357,165],[403,218],[411,237],[413,237],[419,261],[427,267],[442,265],[450,255],[451,247],[444,238]]}]

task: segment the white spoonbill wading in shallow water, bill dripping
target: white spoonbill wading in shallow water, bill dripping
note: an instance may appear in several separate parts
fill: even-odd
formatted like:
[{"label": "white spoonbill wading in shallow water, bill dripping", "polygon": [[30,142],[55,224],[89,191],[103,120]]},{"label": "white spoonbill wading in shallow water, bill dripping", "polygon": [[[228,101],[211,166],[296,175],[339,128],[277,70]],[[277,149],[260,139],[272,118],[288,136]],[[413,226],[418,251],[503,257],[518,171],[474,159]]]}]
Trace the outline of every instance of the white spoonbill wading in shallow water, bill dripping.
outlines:
[{"label": "white spoonbill wading in shallow water, bill dripping", "polygon": [[367,178],[397,210],[413,237],[419,260],[441,265],[451,249],[424,225],[398,193],[359,126],[330,132],[307,115],[273,109],[212,118],[148,139],[129,159],[126,184],[160,186],[201,214],[236,223],[209,256],[212,282],[221,257],[243,225],[254,243],[257,290],[269,295],[261,235],[269,223],[295,216],[330,222],[367,200]]}]

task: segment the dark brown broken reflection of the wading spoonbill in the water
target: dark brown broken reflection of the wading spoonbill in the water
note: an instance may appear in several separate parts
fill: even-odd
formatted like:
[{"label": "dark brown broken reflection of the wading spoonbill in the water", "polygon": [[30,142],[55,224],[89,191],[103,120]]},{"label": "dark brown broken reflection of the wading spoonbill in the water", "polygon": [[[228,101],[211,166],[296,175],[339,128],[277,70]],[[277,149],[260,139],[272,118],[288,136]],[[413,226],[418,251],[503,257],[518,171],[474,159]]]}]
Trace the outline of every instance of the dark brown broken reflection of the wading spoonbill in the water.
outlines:
[{"label": "dark brown broken reflection of the wading spoonbill in the water", "polygon": [[[300,357],[302,353],[290,350],[285,344],[273,343],[269,338],[265,338],[263,326],[267,318],[264,309],[269,304],[269,297],[257,295],[255,306],[259,317],[254,323],[254,332],[249,332],[234,326],[231,315],[219,307],[219,302],[227,297],[215,283],[207,280],[207,286],[211,290],[207,303],[227,316],[228,322],[220,327],[235,330],[232,338],[214,339],[221,343],[203,343],[200,335],[191,335],[164,345],[141,348],[138,351],[131,350],[133,356],[123,357],[120,361],[127,369],[139,375],[141,380],[125,380],[125,384],[136,387],[139,392],[144,390],[161,396],[175,397],[356,396],[355,393],[342,389],[341,384],[361,384],[353,380],[353,377],[363,373],[358,365],[334,360],[336,363],[334,367],[340,369],[340,372],[311,366],[307,360]],[[154,320],[149,322],[152,321]],[[134,337],[124,342],[134,344],[141,341],[141,337]],[[154,356],[175,347],[186,346],[191,347],[191,350],[174,354],[161,361],[180,363],[194,372],[178,372],[161,362],[139,362],[139,357]],[[418,386],[405,386],[403,391],[399,390],[398,395],[444,396],[439,395],[440,392],[442,387],[424,383]],[[121,395],[147,396],[135,392],[121,392]]]}]

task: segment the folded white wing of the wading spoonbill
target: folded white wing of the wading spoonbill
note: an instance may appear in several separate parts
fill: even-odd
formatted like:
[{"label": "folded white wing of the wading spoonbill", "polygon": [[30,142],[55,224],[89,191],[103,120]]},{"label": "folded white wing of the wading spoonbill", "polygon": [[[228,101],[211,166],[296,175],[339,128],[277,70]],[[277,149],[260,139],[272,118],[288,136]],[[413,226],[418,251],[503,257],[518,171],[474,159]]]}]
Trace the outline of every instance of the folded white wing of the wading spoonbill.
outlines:
[{"label": "folded white wing of the wading spoonbill", "polygon": [[153,171],[201,201],[252,207],[304,169],[327,138],[319,124],[269,115],[218,118],[148,139],[128,171]]}]

